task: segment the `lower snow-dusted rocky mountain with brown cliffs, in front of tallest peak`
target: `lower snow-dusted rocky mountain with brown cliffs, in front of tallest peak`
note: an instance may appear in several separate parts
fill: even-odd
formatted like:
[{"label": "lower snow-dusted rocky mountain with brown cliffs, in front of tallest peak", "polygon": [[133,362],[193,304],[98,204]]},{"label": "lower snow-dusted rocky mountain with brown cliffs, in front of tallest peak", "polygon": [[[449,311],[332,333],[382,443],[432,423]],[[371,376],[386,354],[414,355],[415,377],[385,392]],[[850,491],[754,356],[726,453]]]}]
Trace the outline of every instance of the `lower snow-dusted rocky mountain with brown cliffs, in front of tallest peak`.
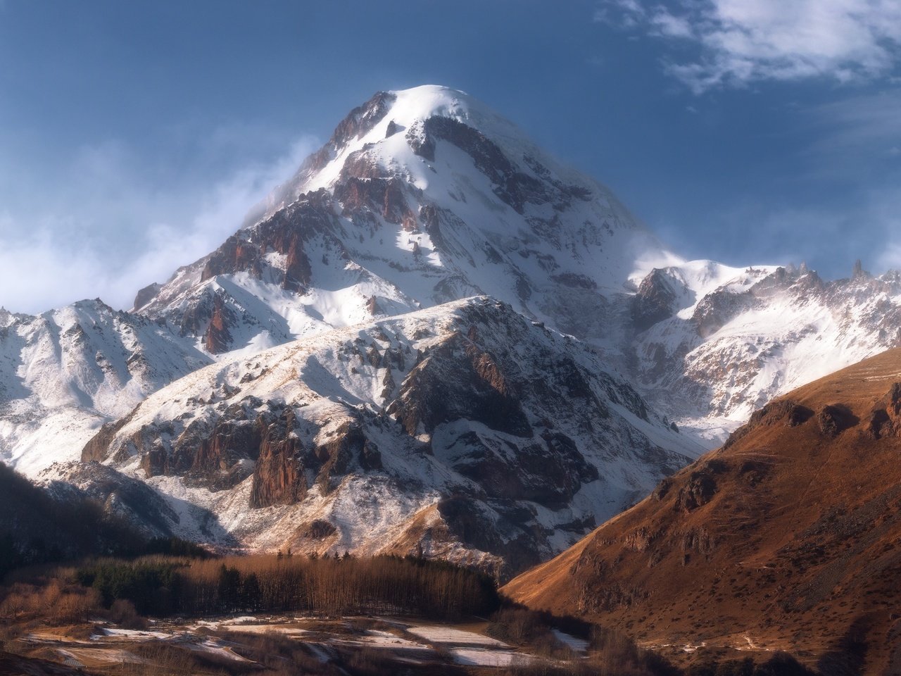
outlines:
[{"label": "lower snow-dusted rocky mountain with brown cliffs, in front of tallest peak", "polygon": [[87,492],[146,481],[172,507],[164,527],[193,539],[212,514],[217,544],[422,548],[518,571],[697,452],[582,343],[480,297],[197,370],[105,425],[84,460],[123,475]]}]

